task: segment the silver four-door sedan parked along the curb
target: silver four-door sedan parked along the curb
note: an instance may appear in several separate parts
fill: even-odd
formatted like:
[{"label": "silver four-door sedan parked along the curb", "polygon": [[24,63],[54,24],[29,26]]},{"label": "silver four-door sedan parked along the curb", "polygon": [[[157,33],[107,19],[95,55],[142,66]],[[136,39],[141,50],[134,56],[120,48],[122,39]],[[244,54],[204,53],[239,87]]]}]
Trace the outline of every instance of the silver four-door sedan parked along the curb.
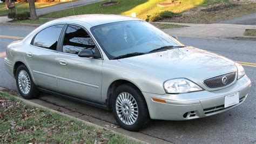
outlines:
[{"label": "silver four-door sedan parked along the curb", "polygon": [[4,62],[23,98],[45,91],[106,108],[129,131],[227,111],[251,87],[240,64],[117,15],[52,20],[9,44]]}]

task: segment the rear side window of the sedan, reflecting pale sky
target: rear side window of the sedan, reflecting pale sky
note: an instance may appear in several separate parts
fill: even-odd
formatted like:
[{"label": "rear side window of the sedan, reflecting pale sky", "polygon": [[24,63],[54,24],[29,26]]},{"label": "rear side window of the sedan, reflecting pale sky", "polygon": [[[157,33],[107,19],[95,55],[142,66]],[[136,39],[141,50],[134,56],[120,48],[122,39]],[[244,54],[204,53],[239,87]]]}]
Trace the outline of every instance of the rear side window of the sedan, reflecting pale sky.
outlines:
[{"label": "rear side window of the sedan, reflecting pale sky", "polygon": [[37,33],[33,40],[33,45],[44,47],[46,49],[56,50],[59,35],[62,32],[63,24],[50,26]]}]

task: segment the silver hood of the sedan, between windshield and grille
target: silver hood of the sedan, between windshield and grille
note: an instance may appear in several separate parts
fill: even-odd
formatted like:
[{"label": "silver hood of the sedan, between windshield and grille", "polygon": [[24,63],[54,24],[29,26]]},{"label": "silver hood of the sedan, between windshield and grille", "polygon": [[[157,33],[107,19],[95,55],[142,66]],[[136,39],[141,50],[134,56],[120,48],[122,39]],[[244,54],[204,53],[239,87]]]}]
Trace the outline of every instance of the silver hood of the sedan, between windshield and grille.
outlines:
[{"label": "silver hood of the sedan, between windshield and grille", "polygon": [[194,82],[237,71],[234,61],[192,46],[119,59],[163,78],[187,78]]}]

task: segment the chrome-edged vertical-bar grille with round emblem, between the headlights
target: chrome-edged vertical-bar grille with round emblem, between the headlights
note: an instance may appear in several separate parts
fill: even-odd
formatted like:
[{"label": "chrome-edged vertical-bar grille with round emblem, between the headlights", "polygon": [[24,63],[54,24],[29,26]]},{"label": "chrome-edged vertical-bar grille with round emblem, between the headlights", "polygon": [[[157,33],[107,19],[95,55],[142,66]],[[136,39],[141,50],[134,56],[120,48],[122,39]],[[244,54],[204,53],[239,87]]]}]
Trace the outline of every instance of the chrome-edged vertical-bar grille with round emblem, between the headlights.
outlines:
[{"label": "chrome-edged vertical-bar grille with round emblem, between the headlights", "polygon": [[[227,83],[223,83],[223,78],[226,77]],[[235,80],[235,72],[223,74],[217,77],[212,77],[209,79],[204,80],[204,84],[209,88],[218,88],[230,85]]]}]

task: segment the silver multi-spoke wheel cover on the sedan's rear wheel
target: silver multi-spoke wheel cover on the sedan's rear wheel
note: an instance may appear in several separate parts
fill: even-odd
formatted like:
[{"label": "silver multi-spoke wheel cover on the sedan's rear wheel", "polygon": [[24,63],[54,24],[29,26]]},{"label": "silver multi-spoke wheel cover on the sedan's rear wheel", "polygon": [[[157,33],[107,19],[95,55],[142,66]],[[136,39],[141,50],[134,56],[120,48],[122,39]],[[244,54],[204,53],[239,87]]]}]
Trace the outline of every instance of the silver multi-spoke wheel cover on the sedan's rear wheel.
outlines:
[{"label": "silver multi-spoke wheel cover on the sedan's rear wheel", "polygon": [[30,87],[31,87],[30,78],[29,78],[29,74],[25,70],[19,71],[18,85],[19,85],[19,90],[21,90],[23,94],[28,94],[30,92]]}]

